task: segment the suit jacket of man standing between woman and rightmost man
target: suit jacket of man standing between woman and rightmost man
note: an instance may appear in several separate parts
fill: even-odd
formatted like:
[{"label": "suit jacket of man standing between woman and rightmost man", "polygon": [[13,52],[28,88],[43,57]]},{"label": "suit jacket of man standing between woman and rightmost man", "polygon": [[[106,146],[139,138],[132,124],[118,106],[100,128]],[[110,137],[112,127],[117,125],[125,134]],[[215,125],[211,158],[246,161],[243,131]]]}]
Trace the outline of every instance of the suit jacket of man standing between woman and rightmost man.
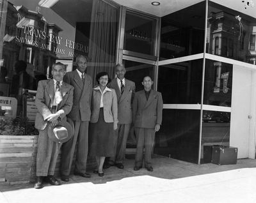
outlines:
[{"label": "suit jacket of man standing between woman and rightmost man", "polygon": [[124,93],[121,94],[118,87],[117,79],[113,79],[109,83],[109,88],[113,88],[116,91],[116,97],[118,102],[118,123],[119,124],[131,124],[132,123],[132,100],[135,93],[135,83],[131,80],[125,79]]}]

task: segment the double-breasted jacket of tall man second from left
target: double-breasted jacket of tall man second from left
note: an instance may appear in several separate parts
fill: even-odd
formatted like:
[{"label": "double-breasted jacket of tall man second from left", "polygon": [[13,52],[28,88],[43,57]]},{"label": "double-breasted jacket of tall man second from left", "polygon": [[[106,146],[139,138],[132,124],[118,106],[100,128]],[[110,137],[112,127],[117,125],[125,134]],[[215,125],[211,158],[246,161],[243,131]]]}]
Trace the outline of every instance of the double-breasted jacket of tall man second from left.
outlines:
[{"label": "double-breasted jacket of tall man second from left", "polygon": [[63,81],[74,87],[73,107],[68,117],[73,121],[90,121],[92,100],[92,77],[84,74],[84,84],[77,70],[66,73]]}]

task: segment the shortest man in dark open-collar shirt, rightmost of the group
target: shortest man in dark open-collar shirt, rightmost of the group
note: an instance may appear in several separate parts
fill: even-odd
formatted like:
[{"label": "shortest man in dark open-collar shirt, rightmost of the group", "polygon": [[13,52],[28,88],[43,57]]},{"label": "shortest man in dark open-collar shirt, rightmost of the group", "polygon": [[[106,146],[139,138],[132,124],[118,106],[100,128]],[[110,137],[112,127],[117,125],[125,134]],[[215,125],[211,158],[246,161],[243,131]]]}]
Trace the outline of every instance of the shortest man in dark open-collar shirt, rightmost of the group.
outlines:
[{"label": "shortest man in dark open-collar shirt, rightmost of the group", "polygon": [[143,147],[145,147],[144,164],[148,171],[153,171],[151,163],[152,147],[155,133],[162,123],[162,94],[151,89],[153,81],[150,76],[143,78],[144,89],[134,94],[132,116],[136,133],[137,148],[134,170],[140,170],[143,163]]}]

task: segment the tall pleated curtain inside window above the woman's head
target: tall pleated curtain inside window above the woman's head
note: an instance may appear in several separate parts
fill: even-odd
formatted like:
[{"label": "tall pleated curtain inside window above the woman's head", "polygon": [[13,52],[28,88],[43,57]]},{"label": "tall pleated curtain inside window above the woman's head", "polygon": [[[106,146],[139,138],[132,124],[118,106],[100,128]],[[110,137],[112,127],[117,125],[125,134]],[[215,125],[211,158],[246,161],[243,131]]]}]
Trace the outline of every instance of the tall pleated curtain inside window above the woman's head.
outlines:
[{"label": "tall pleated curtain inside window above the woman's head", "polygon": [[109,77],[115,77],[117,8],[100,0],[93,1],[92,20],[90,26],[89,57],[86,73],[93,78],[97,73],[106,71]]}]

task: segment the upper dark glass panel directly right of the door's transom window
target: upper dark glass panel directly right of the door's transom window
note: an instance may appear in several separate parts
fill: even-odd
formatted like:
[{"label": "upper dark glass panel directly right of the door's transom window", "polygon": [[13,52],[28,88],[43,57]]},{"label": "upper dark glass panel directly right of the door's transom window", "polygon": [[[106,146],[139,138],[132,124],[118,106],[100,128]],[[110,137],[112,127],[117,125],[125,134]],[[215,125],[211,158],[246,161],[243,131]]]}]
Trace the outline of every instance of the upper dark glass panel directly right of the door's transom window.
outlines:
[{"label": "upper dark glass panel directly right of the door's transom window", "polygon": [[161,19],[159,60],[204,52],[205,1]]}]

